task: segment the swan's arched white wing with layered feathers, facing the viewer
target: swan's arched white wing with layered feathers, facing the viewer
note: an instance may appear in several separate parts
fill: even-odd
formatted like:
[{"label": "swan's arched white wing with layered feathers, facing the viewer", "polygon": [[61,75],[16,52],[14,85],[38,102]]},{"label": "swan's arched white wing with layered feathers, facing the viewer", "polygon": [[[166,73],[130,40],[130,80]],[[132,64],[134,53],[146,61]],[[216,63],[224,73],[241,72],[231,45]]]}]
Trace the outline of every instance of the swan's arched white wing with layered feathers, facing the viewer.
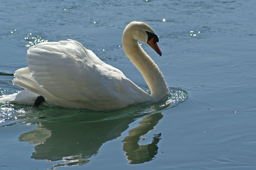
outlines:
[{"label": "swan's arched white wing with layered feathers, facing the viewer", "polygon": [[[105,64],[74,40],[39,43],[30,47],[27,55],[31,73],[28,79],[34,81],[29,90],[45,97],[80,102],[104,101],[127,93],[125,88],[136,89],[131,87],[136,85],[120,70]],[[27,85],[18,85],[28,89]],[[136,90],[128,92],[132,95]]]}]

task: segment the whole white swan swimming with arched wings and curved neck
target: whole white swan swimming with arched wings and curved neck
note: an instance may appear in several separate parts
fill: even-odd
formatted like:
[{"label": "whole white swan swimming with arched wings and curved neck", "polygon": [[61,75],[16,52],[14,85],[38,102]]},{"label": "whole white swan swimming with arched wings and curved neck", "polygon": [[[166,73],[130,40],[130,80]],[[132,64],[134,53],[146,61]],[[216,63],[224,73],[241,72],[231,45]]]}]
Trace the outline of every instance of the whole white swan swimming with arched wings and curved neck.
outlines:
[{"label": "whole white swan swimming with arched wings and curved neck", "polygon": [[138,68],[151,90],[140,89],[124,74],[102,62],[91,50],[74,40],[44,42],[28,49],[28,67],[15,71],[12,80],[24,88],[0,97],[0,102],[34,105],[43,96],[46,105],[112,111],[134,103],[158,102],[169,88],[154,61],[140,47],[148,43],[160,56],[158,38],[146,23],[133,21],[123,33],[126,56]]}]

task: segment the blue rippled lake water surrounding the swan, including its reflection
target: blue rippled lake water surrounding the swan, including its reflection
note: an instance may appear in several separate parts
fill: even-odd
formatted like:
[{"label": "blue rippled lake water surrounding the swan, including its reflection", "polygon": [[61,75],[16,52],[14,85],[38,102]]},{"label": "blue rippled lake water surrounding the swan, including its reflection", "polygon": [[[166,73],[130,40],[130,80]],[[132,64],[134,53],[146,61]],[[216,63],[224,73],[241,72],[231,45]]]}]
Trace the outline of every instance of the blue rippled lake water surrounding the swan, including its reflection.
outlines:
[{"label": "blue rippled lake water surrounding the swan, including its reflection", "polygon": [[148,90],[122,49],[134,20],[159,36],[161,57],[141,46],[172,95],[108,113],[1,103],[0,169],[256,169],[255,5],[1,0],[0,95],[22,90],[11,80],[29,46],[66,39]]}]

